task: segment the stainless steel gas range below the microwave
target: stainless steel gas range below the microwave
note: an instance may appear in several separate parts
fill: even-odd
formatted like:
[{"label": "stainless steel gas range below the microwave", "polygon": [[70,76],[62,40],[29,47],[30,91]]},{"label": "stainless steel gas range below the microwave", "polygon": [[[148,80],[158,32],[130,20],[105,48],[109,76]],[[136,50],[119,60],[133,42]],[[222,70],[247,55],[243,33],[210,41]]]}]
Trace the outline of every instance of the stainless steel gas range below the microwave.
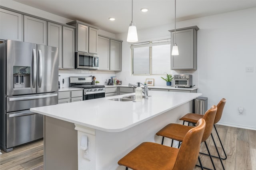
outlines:
[{"label": "stainless steel gas range below the microwave", "polygon": [[93,85],[92,77],[69,77],[69,87],[84,89],[83,100],[105,97],[105,86]]}]

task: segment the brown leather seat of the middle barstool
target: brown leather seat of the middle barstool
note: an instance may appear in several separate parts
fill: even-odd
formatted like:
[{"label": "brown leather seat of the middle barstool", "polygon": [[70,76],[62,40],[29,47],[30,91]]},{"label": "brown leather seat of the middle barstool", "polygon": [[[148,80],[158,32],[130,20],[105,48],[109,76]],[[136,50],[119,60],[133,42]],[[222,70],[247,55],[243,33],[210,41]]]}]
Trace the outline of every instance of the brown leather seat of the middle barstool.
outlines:
[{"label": "brown leather seat of the middle barstool", "polygon": [[182,142],[184,139],[184,136],[186,135],[188,130],[190,130],[192,128],[193,127],[170,123],[170,124],[166,125],[164,128],[162,128],[161,130],[159,130],[156,133],[156,135],[164,136],[164,137]]}]

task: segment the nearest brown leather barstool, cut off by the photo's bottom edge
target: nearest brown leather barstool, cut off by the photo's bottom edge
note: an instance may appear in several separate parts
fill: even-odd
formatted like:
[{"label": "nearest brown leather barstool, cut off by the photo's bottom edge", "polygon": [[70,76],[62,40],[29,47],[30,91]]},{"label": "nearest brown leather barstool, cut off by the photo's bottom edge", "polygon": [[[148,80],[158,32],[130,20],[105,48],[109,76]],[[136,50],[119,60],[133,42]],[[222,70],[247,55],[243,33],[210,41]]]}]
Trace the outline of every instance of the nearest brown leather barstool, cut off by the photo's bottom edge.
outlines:
[{"label": "nearest brown leather barstool, cut off by the photo's bottom edge", "polygon": [[205,126],[204,119],[200,119],[196,127],[188,130],[180,149],[143,142],[120,159],[118,164],[126,166],[126,170],[193,170]]}]

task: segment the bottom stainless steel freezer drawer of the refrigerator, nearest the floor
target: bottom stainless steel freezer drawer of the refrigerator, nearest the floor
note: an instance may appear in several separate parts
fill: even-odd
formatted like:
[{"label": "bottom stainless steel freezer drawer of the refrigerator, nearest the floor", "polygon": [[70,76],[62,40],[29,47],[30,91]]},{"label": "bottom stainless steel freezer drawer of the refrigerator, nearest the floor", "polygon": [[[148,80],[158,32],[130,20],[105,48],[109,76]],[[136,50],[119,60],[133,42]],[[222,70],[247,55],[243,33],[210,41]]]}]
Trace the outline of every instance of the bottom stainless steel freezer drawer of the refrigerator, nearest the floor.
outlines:
[{"label": "bottom stainless steel freezer drawer of the refrigerator, nearest the floor", "polygon": [[6,114],[6,148],[43,138],[43,115],[29,110]]}]

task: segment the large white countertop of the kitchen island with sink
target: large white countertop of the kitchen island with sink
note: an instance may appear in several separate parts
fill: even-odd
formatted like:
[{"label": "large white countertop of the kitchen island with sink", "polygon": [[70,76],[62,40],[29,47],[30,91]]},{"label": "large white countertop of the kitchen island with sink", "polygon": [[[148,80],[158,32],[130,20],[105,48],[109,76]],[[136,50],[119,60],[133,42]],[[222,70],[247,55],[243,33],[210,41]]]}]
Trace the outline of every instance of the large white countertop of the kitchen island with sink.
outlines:
[{"label": "large white countertop of the kitchen island with sink", "polygon": [[105,132],[122,132],[202,94],[149,91],[151,97],[140,102],[108,100],[129,95],[135,93],[31,108],[30,111]]}]

